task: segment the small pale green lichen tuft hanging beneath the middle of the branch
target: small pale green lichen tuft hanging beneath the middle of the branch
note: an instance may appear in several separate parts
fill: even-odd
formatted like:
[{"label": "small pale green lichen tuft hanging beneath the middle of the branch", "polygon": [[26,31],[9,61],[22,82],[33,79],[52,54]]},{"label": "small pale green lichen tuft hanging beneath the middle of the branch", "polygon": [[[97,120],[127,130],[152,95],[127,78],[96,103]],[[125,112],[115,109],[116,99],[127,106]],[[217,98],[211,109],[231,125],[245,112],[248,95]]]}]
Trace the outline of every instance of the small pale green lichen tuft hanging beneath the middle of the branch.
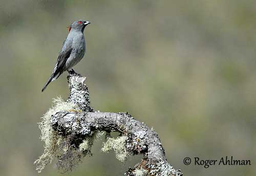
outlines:
[{"label": "small pale green lichen tuft hanging beneath the middle of the branch", "polygon": [[103,152],[108,152],[110,150],[114,150],[116,153],[116,158],[124,162],[128,156],[128,152],[125,149],[125,140],[126,136],[119,136],[117,138],[108,138],[105,143],[103,143],[103,147],[101,150]]}]

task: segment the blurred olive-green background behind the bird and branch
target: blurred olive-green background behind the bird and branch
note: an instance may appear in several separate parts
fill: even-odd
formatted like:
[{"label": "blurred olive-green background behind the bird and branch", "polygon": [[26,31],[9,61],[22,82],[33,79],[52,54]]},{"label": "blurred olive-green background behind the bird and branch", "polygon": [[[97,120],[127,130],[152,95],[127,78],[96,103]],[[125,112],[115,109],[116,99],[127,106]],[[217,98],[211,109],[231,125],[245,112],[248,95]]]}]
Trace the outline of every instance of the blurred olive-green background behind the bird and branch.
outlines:
[{"label": "blurred olive-green background behind the bird and branch", "polygon": [[[52,98],[69,94],[67,73],[50,76],[67,26],[90,20],[87,54],[74,68],[87,76],[92,106],[130,112],[154,127],[169,163],[184,175],[256,172],[255,1],[0,1],[0,175],[38,174],[43,143],[37,122]],[[104,138],[102,139],[104,141]],[[65,175],[122,175],[125,164],[102,141]],[[183,164],[185,157],[251,160],[251,166]]]}]

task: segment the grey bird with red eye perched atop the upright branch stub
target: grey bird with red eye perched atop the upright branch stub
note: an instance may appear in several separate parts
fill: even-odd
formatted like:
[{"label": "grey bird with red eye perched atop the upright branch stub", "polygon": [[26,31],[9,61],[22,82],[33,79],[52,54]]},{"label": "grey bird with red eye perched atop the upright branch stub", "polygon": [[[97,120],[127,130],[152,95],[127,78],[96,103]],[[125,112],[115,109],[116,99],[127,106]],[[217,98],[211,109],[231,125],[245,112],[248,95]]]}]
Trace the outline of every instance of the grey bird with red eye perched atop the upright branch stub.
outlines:
[{"label": "grey bird with red eye perched atop the upright branch stub", "polygon": [[[89,24],[91,24],[90,21],[78,20],[68,27],[69,34],[63,42],[53,72],[44,87],[42,87],[41,92],[44,92],[48,84],[56,80],[63,72],[74,73],[72,68],[86,53],[86,40],[84,39],[83,31]],[[72,70],[70,71],[70,69]]]}]

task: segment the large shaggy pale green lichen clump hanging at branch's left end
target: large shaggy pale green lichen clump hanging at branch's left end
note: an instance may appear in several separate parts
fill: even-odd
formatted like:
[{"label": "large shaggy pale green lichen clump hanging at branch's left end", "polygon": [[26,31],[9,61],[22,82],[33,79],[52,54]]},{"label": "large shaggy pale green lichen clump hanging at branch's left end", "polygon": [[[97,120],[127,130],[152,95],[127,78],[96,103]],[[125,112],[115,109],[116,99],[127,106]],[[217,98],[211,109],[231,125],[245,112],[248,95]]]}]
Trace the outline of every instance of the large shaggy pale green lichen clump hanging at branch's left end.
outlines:
[{"label": "large shaggy pale green lichen clump hanging at branch's left end", "polygon": [[63,101],[61,98],[53,100],[53,106],[41,117],[39,128],[41,130],[41,140],[45,142],[44,153],[34,162],[36,170],[41,172],[53,159],[57,159],[57,167],[63,172],[71,171],[82,158],[91,154],[91,148],[95,139],[99,138],[103,132],[94,131],[92,136],[87,136],[78,146],[73,141],[74,135],[61,136],[51,126],[52,115],[57,112],[69,111],[80,112],[79,108],[72,102]]}]

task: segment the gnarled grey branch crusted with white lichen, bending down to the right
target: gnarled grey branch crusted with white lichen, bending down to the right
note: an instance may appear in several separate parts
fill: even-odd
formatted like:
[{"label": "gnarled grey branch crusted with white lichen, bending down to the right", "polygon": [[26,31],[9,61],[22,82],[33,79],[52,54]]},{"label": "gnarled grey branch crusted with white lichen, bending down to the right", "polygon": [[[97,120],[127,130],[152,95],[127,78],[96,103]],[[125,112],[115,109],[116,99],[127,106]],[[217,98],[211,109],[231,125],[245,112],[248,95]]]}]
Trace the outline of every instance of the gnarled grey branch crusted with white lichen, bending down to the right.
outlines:
[{"label": "gnarled grey branch crusted with white lichen, bending down to the right", "polygon": [[[79,74],[68,76],[70,95],[67,102],[74,103],[76,107],[71,111],[59,111],[52,115],[51,127],[58,135],[69,137],[71,146],[79,148],[96,131],[106,131],[107,139],[111,138],[110,131],[118,131],[124,137],[123,148],[118,152],[144,156],[140,163],[129,168],[124,175],[182,175],[180,170],[168,164],[164,148],[153,129],[135,120],[129,113],[95,112],[90,106],[85,80]],[[86,151],[87,154],[88,150]]]}]

